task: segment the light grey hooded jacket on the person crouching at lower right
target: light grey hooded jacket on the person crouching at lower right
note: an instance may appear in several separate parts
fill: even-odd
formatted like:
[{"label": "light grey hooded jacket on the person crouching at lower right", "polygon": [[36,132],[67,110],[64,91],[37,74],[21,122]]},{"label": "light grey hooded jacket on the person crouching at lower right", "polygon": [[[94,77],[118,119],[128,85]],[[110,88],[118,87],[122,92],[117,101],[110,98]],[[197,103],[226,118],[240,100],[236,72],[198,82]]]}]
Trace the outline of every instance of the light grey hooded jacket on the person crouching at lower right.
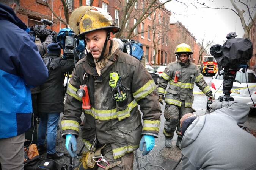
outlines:
[{"label": "light grey hooded jacket on the person crouching at lower right", "polygon": [[256,138],[242,130],[249,107],[240,102],[214,102],[211,114],[198,117],[181,141],[182,169],[255,170]]}]

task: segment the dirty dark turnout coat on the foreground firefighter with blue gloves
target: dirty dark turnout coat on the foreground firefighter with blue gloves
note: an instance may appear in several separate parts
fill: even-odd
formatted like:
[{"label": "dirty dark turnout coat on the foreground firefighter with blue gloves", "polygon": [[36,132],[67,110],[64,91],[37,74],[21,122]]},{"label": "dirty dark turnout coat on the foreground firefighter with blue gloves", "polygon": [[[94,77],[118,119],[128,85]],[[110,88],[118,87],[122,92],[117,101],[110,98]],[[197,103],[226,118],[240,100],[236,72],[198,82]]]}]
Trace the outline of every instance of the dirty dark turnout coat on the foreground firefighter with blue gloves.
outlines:
[{"label": "dirty dark turnout coat on the foreground firefighter with blue gloves", "polygon": [[[117,49],[109,57],[99,76],[92,58],[85,57],[75,66],[68,85],[64,116],[61,122],[63,137],[79,135],[80,116],[85,118],[82,138],[90,147],[97,135],[100,144],[111,144],[114,159],[138,148],[141,135],[158,136],[160,115],[159,96],[154,80],[139,60]],[[118,71],[127,89],[127,100],[112,99],[110,73]],[[90,109],[82,110],[82,99],[76,91],[80,85],[88,86]],[[141,123],[141,114],[143,113]]]}]

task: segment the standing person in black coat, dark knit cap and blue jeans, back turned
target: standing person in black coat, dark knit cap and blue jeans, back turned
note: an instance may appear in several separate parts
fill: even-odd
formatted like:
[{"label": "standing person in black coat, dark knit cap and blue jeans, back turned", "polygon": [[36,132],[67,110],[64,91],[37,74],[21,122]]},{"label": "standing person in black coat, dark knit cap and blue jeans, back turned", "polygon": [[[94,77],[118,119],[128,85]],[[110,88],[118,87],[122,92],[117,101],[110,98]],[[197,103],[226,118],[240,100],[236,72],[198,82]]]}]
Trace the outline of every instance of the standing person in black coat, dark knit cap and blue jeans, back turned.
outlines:
[{"label": "standing person in black coat, dark knit cap and blue jeans, back turned", "polygon": [[[60,112],[64,110],[64,74],[73,70],[74,59],[62,59],[58,43],[51,43],[47,48],[47,56],[43,61],[48,68],[49,78],[40,86],[41,92],[38,96],[40,123],[37,145],[40,154],[47,151],[47,158],[59,159],[64,154],[55,151],[55,139]],[[47,147],[44,147],[45,137]]]}]

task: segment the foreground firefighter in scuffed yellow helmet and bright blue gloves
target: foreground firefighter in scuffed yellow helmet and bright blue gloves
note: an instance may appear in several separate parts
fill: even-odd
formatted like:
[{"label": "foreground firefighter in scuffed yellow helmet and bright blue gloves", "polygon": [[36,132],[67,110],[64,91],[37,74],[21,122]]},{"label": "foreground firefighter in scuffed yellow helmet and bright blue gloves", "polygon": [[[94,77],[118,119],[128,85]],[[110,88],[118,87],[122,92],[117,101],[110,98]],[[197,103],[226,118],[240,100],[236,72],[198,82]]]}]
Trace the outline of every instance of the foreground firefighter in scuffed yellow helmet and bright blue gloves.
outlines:
[{"label": "foreground firefighter in scuffed yellow helmet and bright blue gloves", "polygon": [[[75,66],[68,85],[61,121],[66,148],[76,156],[84,113],[81,136],[88,152],[78,169],[131,170],[133,151],[140,148],[142,155],[148,154],[158,136],[162,111],[157,87],[139,60],[118,49],[113,34],[120,28],[107,12],[82,6],[72,12],[69,24],[77,37],[85,40],[87,55]],[[81,85],[87,85],[85,93],[80,93]],[[87,93],[90,104],[83,96]]]}]

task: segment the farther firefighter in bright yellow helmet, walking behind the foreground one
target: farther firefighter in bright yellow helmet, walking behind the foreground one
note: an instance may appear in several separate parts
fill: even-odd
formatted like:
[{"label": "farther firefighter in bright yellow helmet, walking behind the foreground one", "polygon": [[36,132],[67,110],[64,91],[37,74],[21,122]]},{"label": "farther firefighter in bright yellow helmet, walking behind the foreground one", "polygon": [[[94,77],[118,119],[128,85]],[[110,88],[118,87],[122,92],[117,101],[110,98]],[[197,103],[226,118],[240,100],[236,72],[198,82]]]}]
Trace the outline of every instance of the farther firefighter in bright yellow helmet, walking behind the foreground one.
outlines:
[{"label": "farther firefighter in bright yellow helmet, walking behind the foreground one", "polygon": [[[185,43],[179,44],[175,49],[175,54],[177,61],[168,64],[163,71],[158,92],[159,102],[163,104],[164,100],[166,103],[164,111],[166,121],[163,130],[165,146],[172,147],[171,140],[177,127],[178,139],[176,145],[180,148],[182,136],[180,135],[179,119],[187,113],[193,113],[194,83],[206,96],[210,98],[213,98],[213,96],[198,67],[194,63],[190,63],[189,57],[193,54],[191,47]],[[170,87],[166,90],[168,83]]]}]

